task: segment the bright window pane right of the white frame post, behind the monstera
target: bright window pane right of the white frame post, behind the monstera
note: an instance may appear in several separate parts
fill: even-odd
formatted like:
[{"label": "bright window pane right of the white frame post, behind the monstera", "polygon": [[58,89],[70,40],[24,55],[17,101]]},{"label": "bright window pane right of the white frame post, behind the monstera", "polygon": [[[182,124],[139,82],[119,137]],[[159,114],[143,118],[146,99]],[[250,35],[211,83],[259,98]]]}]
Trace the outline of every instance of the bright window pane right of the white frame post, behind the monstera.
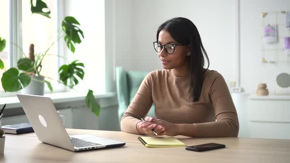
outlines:
[{"label": "bright window pane right of the white frame post, behind the monstera", "polygon": [[[30,0],[22,1],[22,47],[26,55],[29,45],[34,44],[34,53],[44,53],[57,40],[57,0],[43,0],[51,11],[51,18],[31,14]],[[41,75],[58,79],[57,42],[50,48],[42,62]],[[23,56],[22,56],[23,57]],[[51,81],[57,83],[56,81]]]}]

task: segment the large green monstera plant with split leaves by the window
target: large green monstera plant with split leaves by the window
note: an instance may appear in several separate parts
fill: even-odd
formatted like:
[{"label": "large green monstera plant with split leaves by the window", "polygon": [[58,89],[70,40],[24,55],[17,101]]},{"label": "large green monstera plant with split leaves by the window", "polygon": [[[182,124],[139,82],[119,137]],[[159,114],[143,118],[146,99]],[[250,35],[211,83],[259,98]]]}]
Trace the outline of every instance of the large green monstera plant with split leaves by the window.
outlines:
[{"label": "large green monstera plant with split leaves by the window", "polygon": [[[50,19],[50,10],[45,2],[42,0],[32,1],[31,3],[31,13],[40,14],[46,19]],[[45,10],[45,12],[44,12]],[[80,29],[80,23],[71,16],[64,18],[61,24],[63,36],[58,39],[63,38],[67,48],[74,53],[75,45],[80,44],[82,39],[84,39],[84,33]],[[42,53],[34,53],[34,45],[30,44],[29,46],[29,56],[20,58],[17,61],[17,67],[12,67],[8,70],[5,69],[3,61],[0,59],[0,69],[4,69],[4,73],[1,77],[2,87],[5,92],[15,92],[19,91],[29,85],[31,81],[37,81],[46,83],[48,88],[53,91],[52,84],[50,83],[49,77],[43,76],[41,74],[42,62],[45,56],[48,55],[48,51],[54,45],[55,41]],[[13,44],[17,46],[16,44]],[[0,52],[5,49],[6,40],[1,39],[0,37]],[[19,46],[17,46],[19,47]],[[57,55],[60,57],[60,55]],[[70,89],[73,89],[79,83],[79,80],[83,80],[85,76],[84,63],[81,63],[79,60],[74,60],[71,63],[61,65],[58,69],[59,74],[59,83],[68,86]],[[33,77],[42,77],[43,80],[37,80]],[[85,99],[87,107],[91,111],[99,115],[100,105],[96,102],[93,91],[88,90],[87,96]]]}]

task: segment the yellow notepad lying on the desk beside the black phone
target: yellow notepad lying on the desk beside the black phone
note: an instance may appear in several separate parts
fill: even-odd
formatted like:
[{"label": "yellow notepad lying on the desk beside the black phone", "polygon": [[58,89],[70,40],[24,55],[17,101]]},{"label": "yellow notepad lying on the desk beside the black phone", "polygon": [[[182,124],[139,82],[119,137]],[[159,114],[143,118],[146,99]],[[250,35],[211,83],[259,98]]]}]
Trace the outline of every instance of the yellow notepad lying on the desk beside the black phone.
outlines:
[{"label": "yellow notepad lying on the desk beside the black phone", "polygon": [[185,144],[175,137],[138,137],[146,147],[184,147]]}]

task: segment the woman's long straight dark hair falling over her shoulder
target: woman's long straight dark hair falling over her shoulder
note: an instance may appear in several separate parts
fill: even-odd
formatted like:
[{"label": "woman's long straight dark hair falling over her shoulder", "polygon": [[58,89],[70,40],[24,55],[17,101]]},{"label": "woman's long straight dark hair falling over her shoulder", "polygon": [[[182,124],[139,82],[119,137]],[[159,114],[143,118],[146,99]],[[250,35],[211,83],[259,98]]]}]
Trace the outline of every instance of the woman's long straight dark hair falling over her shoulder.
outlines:
[{"label": "woman's long straight dark hair falling over her shoulder", "polygon": [[[159,32],[166,30],[172,38],[179,44],[189,45],[191,55],[188,56],[189,61],[189,94],[193,102],[199,100],[202,92],[203,79],[205,71],[209,67],[209,59],[203,47],[202,39],[197,27],[186,18],[173,18],[164,22],[157,30],[157,41]],[[204,69],[204,56],[207,60],[207,68]]]}]

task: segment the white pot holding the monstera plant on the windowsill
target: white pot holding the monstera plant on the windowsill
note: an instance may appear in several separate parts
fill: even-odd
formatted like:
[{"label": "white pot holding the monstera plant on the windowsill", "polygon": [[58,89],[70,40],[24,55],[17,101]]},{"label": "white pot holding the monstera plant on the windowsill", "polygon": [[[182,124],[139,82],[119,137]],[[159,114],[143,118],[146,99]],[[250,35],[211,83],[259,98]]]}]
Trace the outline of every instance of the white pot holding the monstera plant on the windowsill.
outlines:
[{"label": "white pot holding the monstera plant on the windowsill", "polygon": [[[34,81],[33,79],[37,80]],[[21,90],[22,94],[29,94],[29,95],[40,95],[43,96],[44,94],[44,82],[39,82],[43,81],[44,77],[38,77],[38,76],[33,76],[31,78],[31,82],[29,85]]]}]

